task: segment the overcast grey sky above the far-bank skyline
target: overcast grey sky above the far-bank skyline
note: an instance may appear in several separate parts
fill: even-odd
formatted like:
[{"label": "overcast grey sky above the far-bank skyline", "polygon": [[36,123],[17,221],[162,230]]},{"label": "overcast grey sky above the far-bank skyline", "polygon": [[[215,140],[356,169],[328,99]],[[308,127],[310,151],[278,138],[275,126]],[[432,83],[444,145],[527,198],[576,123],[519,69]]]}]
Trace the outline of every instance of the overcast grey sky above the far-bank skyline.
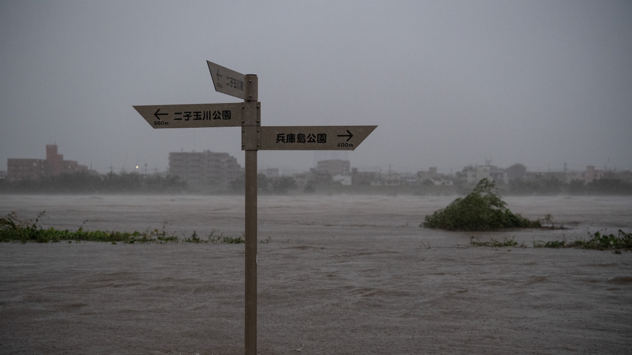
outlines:
[{"label": "overcast grey sky above the far-bank skyline", "polygon": [[107,172],[228,152],[238,128],[153,129],[132,105],[238,102],[206,61],[257,74],[262,125],[378,124],[354,152],[259,152],[303,171],[632,169],[629,1],[0,2],[0,170]]}]

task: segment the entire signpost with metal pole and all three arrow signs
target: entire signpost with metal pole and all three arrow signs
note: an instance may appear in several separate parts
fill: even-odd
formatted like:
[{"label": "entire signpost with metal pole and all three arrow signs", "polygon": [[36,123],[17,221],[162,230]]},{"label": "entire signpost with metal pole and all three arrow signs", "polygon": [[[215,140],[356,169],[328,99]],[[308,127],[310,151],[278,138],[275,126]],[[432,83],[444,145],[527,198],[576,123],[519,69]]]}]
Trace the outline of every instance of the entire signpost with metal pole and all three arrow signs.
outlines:
[{"label": "entire signpost with metal pole and all three arrow signs", "polygon": [[257,150],[354,150],[377,126],[261,126],[257,75],[207,61],[215,90],[243,99],[228,104],[134,106],[153,128],[241,127],[246,156],[245,347],[257,354]]}]

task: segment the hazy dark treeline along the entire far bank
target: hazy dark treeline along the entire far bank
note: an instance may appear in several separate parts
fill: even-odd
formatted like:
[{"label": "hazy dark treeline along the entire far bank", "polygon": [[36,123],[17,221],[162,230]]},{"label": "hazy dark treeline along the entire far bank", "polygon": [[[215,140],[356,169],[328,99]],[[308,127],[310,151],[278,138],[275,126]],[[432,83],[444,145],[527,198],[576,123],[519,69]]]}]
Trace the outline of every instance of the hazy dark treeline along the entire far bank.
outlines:
[{"label": "hazy dark treeline along the entire far bank", "polygon": [[[0,193],[147,193],[147,194],[179,194],[202,193],[224,194],[244,191],[244,177],[230,181],[221,186],[190,186],[178,176],[160,176],[157,174],[138,174],[123,172],[115,174],[90,174],[76,172],[49,176],[37,181],[0,180]],[[294,179],[288,176],[268,178],[263,174],[257,176],[257,190],[263,194],[368,194],[368,195],[466,195],[474,186],[453,185],[434,186],[428,184],[403,184],[389,186],[313,184],[297,186]],[[632,195],[632,183],[619,179],[599,179],[585,184],[576,180],[562,183],[557,179],[523,181],[512,179],[509,184],[499,184],[497,188],[502,195]]]}]

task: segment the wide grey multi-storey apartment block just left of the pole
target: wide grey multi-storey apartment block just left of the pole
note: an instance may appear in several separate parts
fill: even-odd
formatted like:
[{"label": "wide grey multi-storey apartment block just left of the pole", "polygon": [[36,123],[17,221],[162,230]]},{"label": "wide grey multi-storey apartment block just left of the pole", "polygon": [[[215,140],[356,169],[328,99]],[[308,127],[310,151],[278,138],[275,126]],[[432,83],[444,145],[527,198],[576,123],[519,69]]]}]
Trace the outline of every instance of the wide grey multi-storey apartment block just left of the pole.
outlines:
[{"label": "wide grey multi-storey apartment block just left of the pole", "polygon": [[169,153],[169,174],[179,176],[193,187],[226,186],[241,173],[241,165],[228,153],[172,152]]}]

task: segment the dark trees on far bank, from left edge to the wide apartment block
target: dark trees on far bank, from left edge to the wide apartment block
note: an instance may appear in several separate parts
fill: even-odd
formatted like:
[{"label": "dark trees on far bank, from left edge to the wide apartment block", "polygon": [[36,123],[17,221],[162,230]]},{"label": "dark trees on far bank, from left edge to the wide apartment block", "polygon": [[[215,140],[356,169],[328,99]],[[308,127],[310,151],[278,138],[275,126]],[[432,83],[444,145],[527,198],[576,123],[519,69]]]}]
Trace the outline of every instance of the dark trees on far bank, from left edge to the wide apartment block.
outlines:
[{"label": "dark trees on far bank, from left edge to the wide apartment block", "polygon": [[0,193],[182,193],[186,183],[176,176],[138,174],[94,174],[76,172],[47,176],[40,180],[0,180]]}]

